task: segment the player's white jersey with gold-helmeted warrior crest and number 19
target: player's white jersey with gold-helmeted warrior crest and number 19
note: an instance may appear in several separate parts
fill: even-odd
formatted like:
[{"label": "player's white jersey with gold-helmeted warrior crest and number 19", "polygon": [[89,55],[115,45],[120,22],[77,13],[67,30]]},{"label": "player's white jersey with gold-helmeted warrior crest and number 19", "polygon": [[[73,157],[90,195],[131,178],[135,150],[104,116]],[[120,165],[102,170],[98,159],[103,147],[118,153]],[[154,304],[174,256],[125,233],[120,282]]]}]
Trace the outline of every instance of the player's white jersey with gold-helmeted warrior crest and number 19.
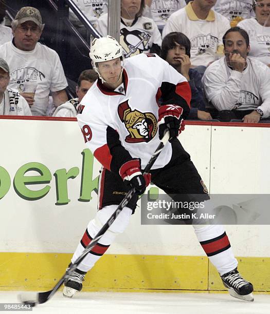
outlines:
[{"label": "player's white jersey with gold-helmeted warrior crest and number 19", "polygon": [[[146,166],[159,144],[158,105],[177,104],[189,112],[191,91],[186,78],[156,54],[139,54],[125,61],[123,83],[114,91],[100,79],[77,107],[85,143],[106,168],[118,173],[132,158]],[[160,153],[153,169],[171,159],[171,145]]]}]

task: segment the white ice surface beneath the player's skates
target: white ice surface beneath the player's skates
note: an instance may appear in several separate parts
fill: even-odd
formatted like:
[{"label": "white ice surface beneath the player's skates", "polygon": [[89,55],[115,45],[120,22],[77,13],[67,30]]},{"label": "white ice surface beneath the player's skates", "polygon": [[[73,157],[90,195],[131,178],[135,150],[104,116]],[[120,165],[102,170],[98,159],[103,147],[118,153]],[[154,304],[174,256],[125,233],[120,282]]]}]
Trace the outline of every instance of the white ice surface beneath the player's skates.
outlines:
[{"label": "white ice surface beneath the player's skates", "polygon": [[[14,291],[0,291],[0,303],[17,303],[18,294],[19,292]],[[15,313],[15,311],[8,313],[12,312]],[[16,311],[16,313],[20,312]],[[74,299],[67,299],[62,297],[61,292],[57,292],[46,303],[34,307],[32,312],[46,314],[269,314],[270,295],[255,295],[254,302],[245,302],[234,299],[227,293],[80,292]]]}]

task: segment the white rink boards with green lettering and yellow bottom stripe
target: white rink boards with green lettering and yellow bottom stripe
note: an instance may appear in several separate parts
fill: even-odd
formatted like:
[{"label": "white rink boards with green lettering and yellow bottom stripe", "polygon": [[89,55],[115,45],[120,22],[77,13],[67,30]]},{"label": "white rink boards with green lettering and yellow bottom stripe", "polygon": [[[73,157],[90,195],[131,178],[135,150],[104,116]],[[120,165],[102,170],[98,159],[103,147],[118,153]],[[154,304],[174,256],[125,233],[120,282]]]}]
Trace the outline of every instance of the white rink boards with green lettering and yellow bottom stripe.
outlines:
[{"label": "white rink boards with green lettering and yellow bottom stripe", "polygon": [[[265,126],[187,125],[179,139],[210,192],[269,193]],[[46,289],[62,276],[96,213],[100,165],[75,121],[0,119],[0,127],[0,289]],[[38,177],[37,169],[43,182],[24,186],[23,172]],[[38,190],[44,195],[34,200]],[[257,291],[270,291],[268,230],[226,227],[240,270]],[[107,253],[87,274],[86,290],[224,289],[191,226],[142,226],[139,207]]]}]

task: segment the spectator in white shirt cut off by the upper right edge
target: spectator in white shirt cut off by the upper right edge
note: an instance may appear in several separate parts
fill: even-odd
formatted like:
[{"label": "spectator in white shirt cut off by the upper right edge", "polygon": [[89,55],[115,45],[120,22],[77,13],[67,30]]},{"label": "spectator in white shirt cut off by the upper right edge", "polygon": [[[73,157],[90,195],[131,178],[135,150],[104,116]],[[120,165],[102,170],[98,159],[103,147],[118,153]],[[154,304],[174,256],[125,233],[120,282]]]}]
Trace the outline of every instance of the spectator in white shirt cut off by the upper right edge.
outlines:
[{"label": "spectator in white shirt cut off by the upper right edge", "polygon": [[258,0],[254,10],[256,18],[244,19],[238,26],[248,33],[248,56],[256,57],[270,67],[270,0]]}]

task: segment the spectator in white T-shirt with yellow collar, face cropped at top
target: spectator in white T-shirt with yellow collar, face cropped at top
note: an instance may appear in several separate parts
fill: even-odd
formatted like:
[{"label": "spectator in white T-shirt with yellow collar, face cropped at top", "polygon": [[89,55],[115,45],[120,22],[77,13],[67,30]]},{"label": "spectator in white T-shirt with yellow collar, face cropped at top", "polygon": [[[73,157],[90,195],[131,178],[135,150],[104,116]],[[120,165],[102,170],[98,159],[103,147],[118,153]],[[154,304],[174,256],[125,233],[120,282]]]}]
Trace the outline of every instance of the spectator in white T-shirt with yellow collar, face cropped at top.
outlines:
[{"label": "spectator in white T-shirt with yellow collar, face cropped at top", "polygon": [[189,38],[192,67],[208,66],[217,54],[222,55],[222,35],[230,24],[226,17],[211,10],[216,1],[194,0],[174,12],[164,27],[163,37],[170,32],[182,32]]}]

